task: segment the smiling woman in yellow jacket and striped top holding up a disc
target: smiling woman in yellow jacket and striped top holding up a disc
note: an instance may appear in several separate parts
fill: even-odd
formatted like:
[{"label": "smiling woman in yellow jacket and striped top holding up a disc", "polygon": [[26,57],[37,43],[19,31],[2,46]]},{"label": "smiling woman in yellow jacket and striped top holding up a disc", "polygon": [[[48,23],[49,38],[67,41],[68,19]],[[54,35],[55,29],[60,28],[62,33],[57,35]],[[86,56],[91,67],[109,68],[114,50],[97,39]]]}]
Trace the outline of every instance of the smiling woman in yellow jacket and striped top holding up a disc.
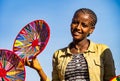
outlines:
[{"label": "smiling woman in yellow jacket and striped top holding up a disc", "polygon": [[[54,53],[52,81],[109,81],[115,76],[109,47],[87,39],[93,33],[96,23],[97,16],[92,10],[82,8],[75,12],[71,23],[73,41]],[[42,69],[37,71],[46,81],[47,76]]]}]

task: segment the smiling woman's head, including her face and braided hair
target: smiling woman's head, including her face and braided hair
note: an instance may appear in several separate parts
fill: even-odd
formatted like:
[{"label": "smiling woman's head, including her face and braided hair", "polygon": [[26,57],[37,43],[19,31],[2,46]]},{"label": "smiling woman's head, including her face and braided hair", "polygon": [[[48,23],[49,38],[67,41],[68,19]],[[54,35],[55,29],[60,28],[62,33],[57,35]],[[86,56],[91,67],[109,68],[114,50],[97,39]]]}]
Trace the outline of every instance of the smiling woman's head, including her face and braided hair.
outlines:
[{"label": "smiling woman's head, including her face and braided hair", "polygon": [[78,41],[89,36],[94,31],[97,22],[97,17],[94,12],[90,12],[87,9],[86,11],[81,9],[81,13],[79,13],[79,11],[80,10],[76,11],[71,23],[72,36],[74,40]]}]

